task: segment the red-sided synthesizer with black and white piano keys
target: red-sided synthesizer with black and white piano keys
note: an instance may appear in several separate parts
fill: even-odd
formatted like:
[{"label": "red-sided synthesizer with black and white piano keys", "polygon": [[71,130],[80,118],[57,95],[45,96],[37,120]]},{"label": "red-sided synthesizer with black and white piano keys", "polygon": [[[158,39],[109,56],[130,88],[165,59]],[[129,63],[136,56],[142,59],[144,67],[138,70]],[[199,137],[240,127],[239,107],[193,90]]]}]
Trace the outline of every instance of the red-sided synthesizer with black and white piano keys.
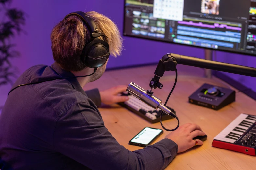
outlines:
[{"label": "red-sided synthesizer with black and white piano keys", "polygon": [[214,147],[256,155],[256,116],[240,114],[214,137]]}]

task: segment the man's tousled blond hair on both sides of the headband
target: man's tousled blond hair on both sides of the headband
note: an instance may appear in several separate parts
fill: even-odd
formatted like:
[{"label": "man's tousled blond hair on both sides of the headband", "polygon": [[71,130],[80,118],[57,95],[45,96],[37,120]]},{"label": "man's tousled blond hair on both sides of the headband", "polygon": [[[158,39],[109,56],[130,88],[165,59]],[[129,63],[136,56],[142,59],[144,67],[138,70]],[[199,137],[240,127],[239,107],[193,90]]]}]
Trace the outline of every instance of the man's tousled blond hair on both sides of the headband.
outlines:
[{"label": "man's tousled blond hair on both sides of the headband", "polygon": [[[110,54],[114,57],[121,55],[123,39],[116,24],[108,17],[95,12],[86,12],[99,32],[108,37]],[[99,37],[107,41],[105,36]],[[86,68],[81,60],[83,47],[89,41],[90,35],[84,21],[75,15],[60,21],[52,30],[52,53],[56,63],[67,71],[81,71]]]}]

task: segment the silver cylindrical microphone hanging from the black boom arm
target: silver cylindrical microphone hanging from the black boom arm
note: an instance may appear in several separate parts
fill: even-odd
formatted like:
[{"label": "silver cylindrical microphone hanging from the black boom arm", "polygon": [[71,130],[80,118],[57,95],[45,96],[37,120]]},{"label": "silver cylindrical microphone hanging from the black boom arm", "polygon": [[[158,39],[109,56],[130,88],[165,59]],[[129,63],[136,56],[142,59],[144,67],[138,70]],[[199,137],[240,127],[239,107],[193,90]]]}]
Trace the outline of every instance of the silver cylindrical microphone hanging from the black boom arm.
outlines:
[{"label": "silver cylindrical microphone hanging from the black boom arm", "polygon": [[155,110],[160,109],[163,112],[165,112],[166,114],[176,118],[175,113],[173,113],[167,107],[162,105],[162,100],[160,100],[159,98],[157,98],[153,95],[148,94],[143,88],[141,88],[137,84],[131,82],[128,85],[126,91],[128,93],[130,93],[131,95],[133,95],[134,97],[136,97],[137,99],[144,102],[145,104],[147,104],[148,106],[152,107],[153,109],[155,109]]}]

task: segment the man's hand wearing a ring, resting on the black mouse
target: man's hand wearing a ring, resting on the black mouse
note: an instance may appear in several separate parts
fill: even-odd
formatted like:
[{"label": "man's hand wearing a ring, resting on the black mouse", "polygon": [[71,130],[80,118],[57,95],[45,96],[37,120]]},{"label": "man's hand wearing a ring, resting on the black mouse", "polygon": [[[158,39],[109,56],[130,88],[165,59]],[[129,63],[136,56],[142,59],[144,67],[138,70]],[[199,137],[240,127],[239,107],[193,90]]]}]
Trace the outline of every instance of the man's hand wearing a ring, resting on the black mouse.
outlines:
[{"label": "man's hand wearing a ring, resting on the black mouse", "polygon": [[[205,133],[202,129],[191,123],[186,123],[180,126],[176,131],[173,131],[165,136],[165,138],[171,139],[178,145],[178,153],[184,152],[193,146],[195,146],[195,141],[193,140],[196,136],[204,136]],[[198,145],[203,145],[203,141],[197,139]]]}]

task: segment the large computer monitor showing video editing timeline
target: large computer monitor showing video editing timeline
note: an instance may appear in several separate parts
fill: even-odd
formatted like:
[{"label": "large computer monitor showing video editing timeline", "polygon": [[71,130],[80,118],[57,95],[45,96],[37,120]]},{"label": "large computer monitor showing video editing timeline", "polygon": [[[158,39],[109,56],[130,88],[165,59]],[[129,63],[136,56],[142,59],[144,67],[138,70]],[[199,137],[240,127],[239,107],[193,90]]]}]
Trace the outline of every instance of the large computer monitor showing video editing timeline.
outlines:
[{"label": "large computer monitor showing video editing timeline", "polygon": [[125,0],[127,36],[256,54],[256,0]]}]

